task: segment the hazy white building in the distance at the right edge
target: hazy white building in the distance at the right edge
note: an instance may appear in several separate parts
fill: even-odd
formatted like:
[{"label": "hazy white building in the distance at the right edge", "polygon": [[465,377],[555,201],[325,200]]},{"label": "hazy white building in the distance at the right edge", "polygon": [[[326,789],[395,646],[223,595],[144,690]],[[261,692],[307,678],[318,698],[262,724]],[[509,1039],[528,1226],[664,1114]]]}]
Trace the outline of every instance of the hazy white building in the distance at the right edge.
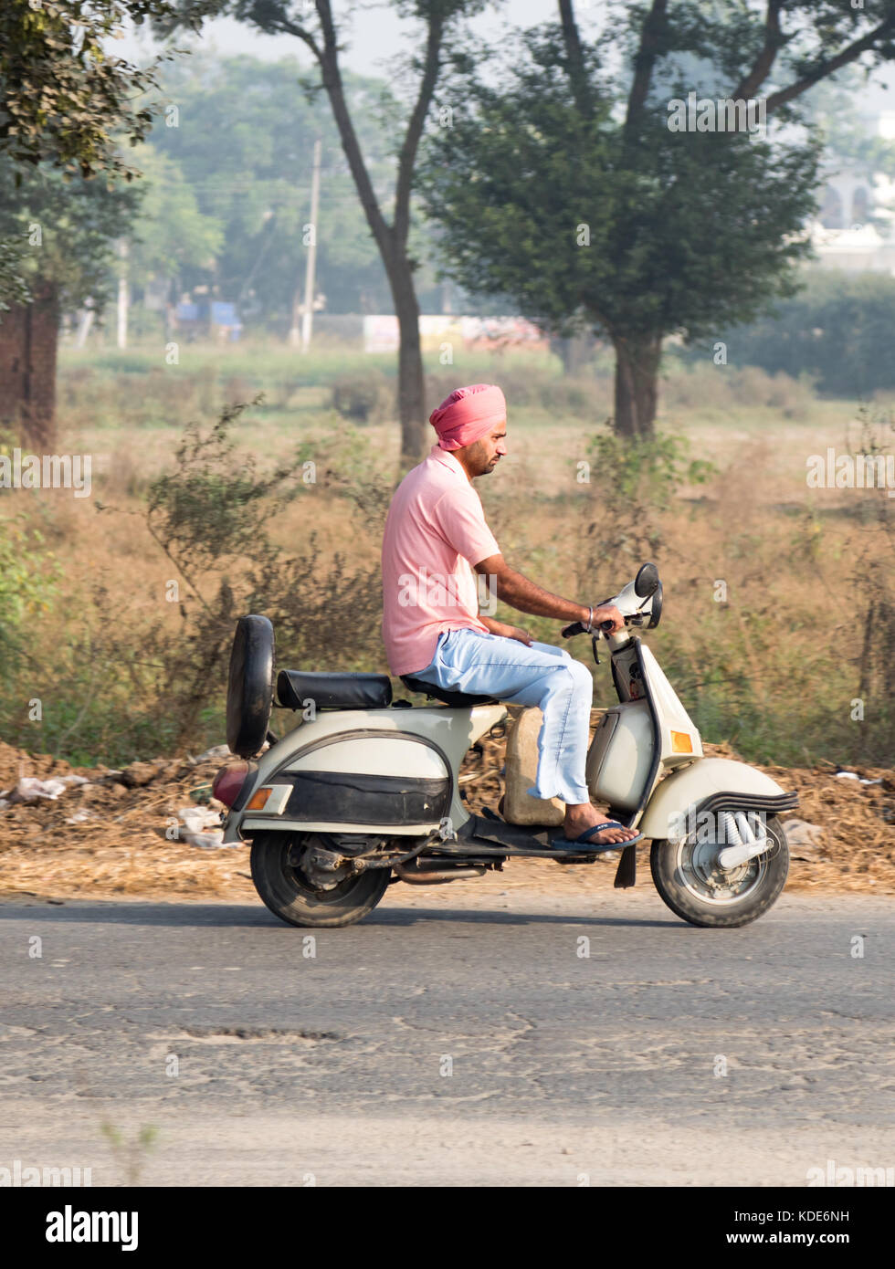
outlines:
[{"label": "hazy white building in the distance at the right edge", "polygon": [[[895,141],[895,110],[870,122],[877,137]],[[811,242],[826,268],[895,275],[895,180],[845,162],[830,165]]]}]

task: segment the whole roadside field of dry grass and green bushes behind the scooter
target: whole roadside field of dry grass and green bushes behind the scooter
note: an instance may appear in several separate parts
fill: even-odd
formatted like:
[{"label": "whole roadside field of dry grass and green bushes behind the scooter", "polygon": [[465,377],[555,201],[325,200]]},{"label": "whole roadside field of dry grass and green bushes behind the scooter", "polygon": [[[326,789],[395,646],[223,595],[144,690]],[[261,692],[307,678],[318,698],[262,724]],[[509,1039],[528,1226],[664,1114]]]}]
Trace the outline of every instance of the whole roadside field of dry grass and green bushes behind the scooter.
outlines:
[{"label": "whole roadside field of dry grass and green bushes behind the scooter", "polygon": [[[432,362],[433,404],[457,382],[507,392],[510,456],[479,485],[514,565],[583,600],[659,565],[665,614],[646,637],[708,741],[754,761],[891,761],[895,500],[806,485],[828,444],[892,452],[885,397],[820,400],[783,373],[672,357],[641,453],[604,423],[599,353],[574,377],[546,353]],[[354,398],[387,385],[388,360],[190,345],[159,363],[157,345],[63,353],[60,448],[93,456],[91,496],[0,505],[0,730],[74,764],[220,742],[245,612],[273,619],[281,665],[386,669],[397,429],[388,391],[366,415]],[[584,640],[573,651],[589,662]],[[595,684],[611,703],[604,667]]]}]

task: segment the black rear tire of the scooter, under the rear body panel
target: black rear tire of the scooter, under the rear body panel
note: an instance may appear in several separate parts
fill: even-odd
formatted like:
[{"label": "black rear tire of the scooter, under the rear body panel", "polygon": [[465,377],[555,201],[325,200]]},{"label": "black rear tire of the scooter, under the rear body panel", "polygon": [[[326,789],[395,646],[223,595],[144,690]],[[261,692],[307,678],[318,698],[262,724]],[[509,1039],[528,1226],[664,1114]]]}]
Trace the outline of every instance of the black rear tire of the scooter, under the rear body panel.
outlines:
[{"label": "black rear tire of the scooter, under the rear body panel", "polygon": [[259,832],[251,843],[251,879],[262,901],[287,925],[335,929],[372,912],[386,892],[391,868],[371,868],[335,890],[315,890],[289,863],[301,843],[293,832]]}]

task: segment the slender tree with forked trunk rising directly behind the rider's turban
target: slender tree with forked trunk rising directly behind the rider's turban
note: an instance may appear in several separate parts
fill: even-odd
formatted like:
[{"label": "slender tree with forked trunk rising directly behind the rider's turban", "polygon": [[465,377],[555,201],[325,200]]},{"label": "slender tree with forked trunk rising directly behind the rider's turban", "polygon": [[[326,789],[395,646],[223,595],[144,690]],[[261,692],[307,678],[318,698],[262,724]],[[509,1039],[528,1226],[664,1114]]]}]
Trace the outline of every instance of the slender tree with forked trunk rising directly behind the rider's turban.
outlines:
[{"label": "slender tree with forked trunk rising directly behind the rider's turban", "polygon": [[[423,25],[419,51],[409,60],[414,89],[397,145],[397,173],[386,199],[371,179],[355,121],[345,94],[340,49],[344,19],[336,19],[331,0],[179,0],[178,8],[193,22],[212,14],[231,14],[267,34],[287,34],[310,49],[319,72],[317,84],[329,98],[341,147],[388,277],[400,331],[397,407],[401,420],[401,463],[415,463],[427,445],[425,391],[419,340],[419,303],[414,286],[416,261],[409,250],[410,198],[420,141],[444,63],[446,41],[463,16],[481,11],[485,0],[399,0],[399,11]],[[162,22],[161,29],[173,29]]]}]

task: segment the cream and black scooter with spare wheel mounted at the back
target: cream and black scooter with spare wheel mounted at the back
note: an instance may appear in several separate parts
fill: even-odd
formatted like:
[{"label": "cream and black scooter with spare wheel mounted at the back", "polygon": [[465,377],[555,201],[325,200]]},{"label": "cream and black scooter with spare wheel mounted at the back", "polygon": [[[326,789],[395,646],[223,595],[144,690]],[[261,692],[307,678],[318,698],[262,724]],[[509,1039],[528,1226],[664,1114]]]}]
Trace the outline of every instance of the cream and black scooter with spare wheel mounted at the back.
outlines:
[{"label": "cream and black scooter with spare wheel mounted at the back", "polygon": [[[608,645],[618,704],[602,716],[590,744],[590,794],[608,803],[611,817],[651,839],[653,881],[678,916],[705,926],[754,921],[786,882],[790,854],[777,816],[797,805],[797,794],[745,763],[703,756],[699,732],[650,650],[631,633],[659,624],[655,565],[645,563],[606,603],[620,609],[626,628],[593,638],[595,660],[598,638]],[[583,631],[574,623],[562,633]],[[571,843],[550,845],[562,807],[528,797],[531,770],[520,774],[518,764],[508,761],[507,817],[465,807],[463,755],[504,727],[508,711],[487,697],[410,676],[404,683],[441,703],[392,700],[386,675],[281,670],[275,703],[288,712],[288,725],[277,739],[269,731],[273,627],[260,615],[236,626],[227,744],[246,761],[223,768],[213,793],[230,807],[225,841],[251,841],[255,888],[291,925],[350,925],[376,907],[390,882],[480,877],[517,858],[565,864],[597,858]],[[617,887],[633,884],[635,860],[636,846],[621,849]]]}]

